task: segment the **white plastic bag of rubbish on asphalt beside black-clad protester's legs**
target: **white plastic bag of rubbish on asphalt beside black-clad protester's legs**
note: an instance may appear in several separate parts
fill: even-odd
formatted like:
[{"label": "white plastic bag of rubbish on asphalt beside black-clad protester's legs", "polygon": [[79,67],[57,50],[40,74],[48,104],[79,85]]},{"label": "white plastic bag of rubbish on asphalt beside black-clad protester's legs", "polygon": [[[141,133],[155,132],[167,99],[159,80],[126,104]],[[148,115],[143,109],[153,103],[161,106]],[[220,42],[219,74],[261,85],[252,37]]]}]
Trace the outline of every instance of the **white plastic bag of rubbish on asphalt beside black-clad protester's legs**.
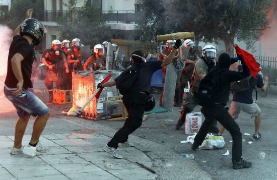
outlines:
[{"label": "white plastic bag of rubbish on asphalt beside black-clad protester's legs", "polygon": [[214,136],[203,141],[199,149],[219,149],[223,148],[225,142],[222,136]]}]

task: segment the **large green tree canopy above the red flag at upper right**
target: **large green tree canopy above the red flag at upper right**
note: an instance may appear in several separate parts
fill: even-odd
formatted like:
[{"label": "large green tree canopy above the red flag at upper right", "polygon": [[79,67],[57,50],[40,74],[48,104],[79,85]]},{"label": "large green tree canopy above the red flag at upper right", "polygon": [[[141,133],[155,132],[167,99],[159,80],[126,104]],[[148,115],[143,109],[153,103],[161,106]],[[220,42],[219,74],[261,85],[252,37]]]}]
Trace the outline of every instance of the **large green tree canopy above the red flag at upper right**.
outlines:
[{"label": "large green tree canopy above the red flag at upper right", "polygon": [[193,31],[195,39],[203,42],[223,40],[226,52],[233,54],[233,41],[243,41],[255,51],[254,43],[269,28],[267,14],[272,0],[172,0],[165,3],[175,31]]}]

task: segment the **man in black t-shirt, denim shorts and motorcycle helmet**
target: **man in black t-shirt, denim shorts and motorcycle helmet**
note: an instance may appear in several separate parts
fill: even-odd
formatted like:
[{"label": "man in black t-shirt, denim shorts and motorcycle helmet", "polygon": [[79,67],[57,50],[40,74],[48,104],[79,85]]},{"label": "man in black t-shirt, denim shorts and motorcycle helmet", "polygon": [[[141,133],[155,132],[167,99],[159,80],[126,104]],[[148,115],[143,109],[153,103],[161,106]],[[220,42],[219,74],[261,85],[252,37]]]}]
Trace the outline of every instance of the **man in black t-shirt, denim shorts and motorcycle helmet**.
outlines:
[{"label": "man in black t-shirt, denim shorts and motorcycle helmet", "polygon": [[[14,147],[11,154],[36,155],[36,151],[48,152],[50,147],[39,142],[39,137],[50,115],[49,108],[28,88],[32,88],[31,74],[34,61],[34,46],[43,40],[43,25],[32,19],[29,9],[24,20],[14,31],[8,57],[8,71],[5,81],[5,96],[15,106],[19,119],[16,123]],[[22,138],[30,116],[36,116],[33,133],[28,147],[23,148]]]}]

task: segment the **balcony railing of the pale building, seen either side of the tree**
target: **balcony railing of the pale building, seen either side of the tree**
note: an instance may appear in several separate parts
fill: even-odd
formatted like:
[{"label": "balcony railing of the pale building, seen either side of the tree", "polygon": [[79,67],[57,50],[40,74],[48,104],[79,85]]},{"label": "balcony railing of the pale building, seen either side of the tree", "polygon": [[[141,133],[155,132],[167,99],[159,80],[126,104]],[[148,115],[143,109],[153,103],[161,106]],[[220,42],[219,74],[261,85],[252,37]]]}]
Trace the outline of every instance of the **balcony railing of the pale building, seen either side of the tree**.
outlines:
[{"label": "balcony railing of the pale building, seen either side of the tree", "polygon": [[[108,14],[110,12],[110,14]],[[135,11],[103,11],[103,14],[108,14],[107,23],[126,23],[135,24]],[[56,22],[59,17],[67,17],[67,21],[78,21],[82,16],[80,11],[44,11],[38,15],[37,18],[40,21]]]}]

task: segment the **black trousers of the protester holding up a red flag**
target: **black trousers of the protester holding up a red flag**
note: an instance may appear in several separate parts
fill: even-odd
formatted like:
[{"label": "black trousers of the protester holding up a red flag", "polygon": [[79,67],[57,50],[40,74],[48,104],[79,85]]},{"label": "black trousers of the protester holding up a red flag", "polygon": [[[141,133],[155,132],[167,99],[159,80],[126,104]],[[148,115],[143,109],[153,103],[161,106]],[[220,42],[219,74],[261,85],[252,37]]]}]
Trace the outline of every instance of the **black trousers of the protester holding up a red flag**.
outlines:
[{"label": "black trousers of the protester holding up a red flag", "polygon": [[225,108],[224,105],[218,104],[209,108],[202,107],[201,112],[205,116],[205,121],[194,138],[194,144],[198,146],[202,144],[210,126],[214,119],[216,119],[231,134],[233,139],[232,162],[234,162],[234,160],[238,161],[242,155],[241,132],[238,124],[229,114],[227,108]]}]

